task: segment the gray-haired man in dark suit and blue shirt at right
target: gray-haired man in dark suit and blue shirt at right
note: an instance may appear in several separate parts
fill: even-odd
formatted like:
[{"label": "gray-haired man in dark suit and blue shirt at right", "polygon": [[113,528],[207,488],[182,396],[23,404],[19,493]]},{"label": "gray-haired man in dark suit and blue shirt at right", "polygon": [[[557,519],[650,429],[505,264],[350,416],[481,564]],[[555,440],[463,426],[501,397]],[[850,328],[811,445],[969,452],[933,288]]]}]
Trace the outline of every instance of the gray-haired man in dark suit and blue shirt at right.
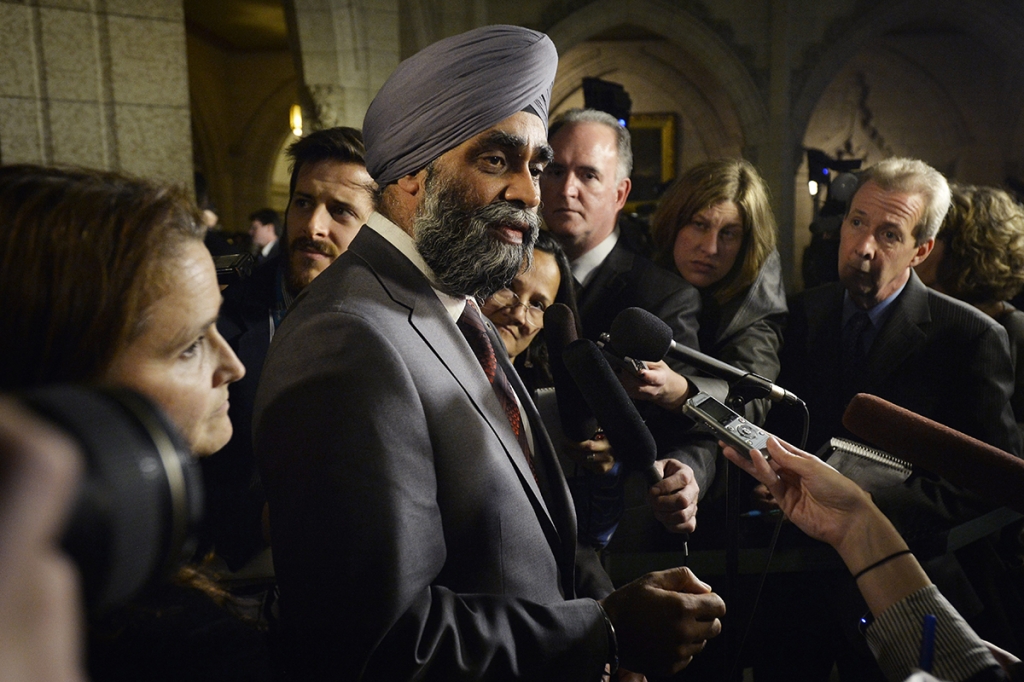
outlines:
[{"label": "gray-haired man in dark suit and blue shirt at right", "polygon": [[[790,301],[778,383],[807,401],[810,452],[834,436],[856,439],[842,419],[863,392],[1020,455],[1006,331],[973,306],[928,289],[913,271],[931,253],[948,208],[945,178],[922,161],[887,159],[860,173],[840,231],[840,281]],[[772,411],[766,428],[799,442],[802,424],[786,417],[799,416]],[[978,520],[988,511],[984,501],[919,470],[871,494],[969,623],[997,623],[991,612],[997,600],[970,580],[979,566],[992,568],[982,558],[995,556],[991,548],[975,551],[964,565],[947,550],[950,529]],[[767,658],[758,666],[766,679],[826,680],[837,659],[844,679],[883,679],[862,638],[846,636],[865,610],[848,573],[777,576],[765,593],[771,603],[764,612],[776,619],[765,628]],[[800,642],[800,655],[791,641]]]}]

